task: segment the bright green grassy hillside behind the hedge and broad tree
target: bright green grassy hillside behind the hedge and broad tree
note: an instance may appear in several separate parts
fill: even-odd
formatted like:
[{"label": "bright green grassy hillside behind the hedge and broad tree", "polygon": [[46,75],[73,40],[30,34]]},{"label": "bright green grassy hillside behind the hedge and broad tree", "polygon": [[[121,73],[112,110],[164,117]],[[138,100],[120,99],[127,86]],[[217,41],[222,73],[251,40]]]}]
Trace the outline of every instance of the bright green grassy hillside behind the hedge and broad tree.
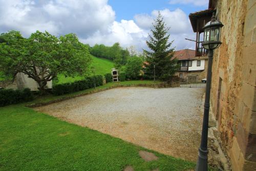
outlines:
[{"label": "bright green grassy hillside behind the hedge and broad tree", "polygon": [[[105,73],[111,73],[111,69],[114,68],[114,63],[110,60],[106,60],[103,58],[96,58],[92,56],[92,66],[95,68],[95,74],[104,75]],[[91,72],[91,74],[93,74]],[[83,77],[67,77],[65,78],[64,75],[58,75],[58,82],[54,81],[54,84],[62,84],[62,83],[71,83],[74,81],[78,81],[83,79]]]}]

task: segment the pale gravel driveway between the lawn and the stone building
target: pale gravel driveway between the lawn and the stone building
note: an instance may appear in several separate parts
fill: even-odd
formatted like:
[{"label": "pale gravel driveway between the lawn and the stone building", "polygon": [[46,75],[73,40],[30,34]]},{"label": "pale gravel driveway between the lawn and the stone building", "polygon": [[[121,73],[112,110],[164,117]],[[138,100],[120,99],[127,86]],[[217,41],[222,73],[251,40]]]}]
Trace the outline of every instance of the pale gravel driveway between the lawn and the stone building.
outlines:
[{"label": "pale gravel driveway between the lawn and the stone building", "polygon": [[203,89],[125,87],[35,110],[160,153],[196,161]]}]

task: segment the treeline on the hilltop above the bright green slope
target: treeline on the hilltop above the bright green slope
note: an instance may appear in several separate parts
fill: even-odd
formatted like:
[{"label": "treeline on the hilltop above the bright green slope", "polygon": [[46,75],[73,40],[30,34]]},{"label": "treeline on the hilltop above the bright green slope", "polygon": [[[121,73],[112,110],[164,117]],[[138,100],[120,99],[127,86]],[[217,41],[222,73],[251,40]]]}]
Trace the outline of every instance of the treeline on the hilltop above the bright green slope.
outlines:
[{"label": "treeline on the hilltop above the bright green slope", "polygon": [[117,68],[125,65],[130,57],[129,51],[123,49],[119,43],[115,43],[113,46],[96,44],[90,48],[90,53],[99,58],[112,60]]}]

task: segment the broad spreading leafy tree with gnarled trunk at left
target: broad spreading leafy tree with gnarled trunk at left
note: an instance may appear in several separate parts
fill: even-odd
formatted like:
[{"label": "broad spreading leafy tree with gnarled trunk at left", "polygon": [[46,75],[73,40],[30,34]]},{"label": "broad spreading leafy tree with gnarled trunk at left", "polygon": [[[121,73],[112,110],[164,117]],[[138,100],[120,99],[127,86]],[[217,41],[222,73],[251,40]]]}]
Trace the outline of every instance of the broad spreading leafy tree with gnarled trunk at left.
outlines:
[{"label": "broad spreading leafy tree with gnarled trunk at left", "polygon": [[87,72],[90,61],[88,47],[73,33],[57,38],[36,31],[27,39],[18,31],[0,35],[0,72],[11,78],[25,73],[42,92],[59,73],[73,77]]}]

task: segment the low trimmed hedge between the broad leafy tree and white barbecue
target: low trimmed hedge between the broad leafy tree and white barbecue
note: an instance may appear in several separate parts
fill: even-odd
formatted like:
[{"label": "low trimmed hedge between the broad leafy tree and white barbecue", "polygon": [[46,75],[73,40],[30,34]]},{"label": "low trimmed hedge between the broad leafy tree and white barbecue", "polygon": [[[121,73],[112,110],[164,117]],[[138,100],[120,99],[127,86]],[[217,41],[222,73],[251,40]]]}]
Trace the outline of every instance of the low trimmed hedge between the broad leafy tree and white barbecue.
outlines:
[{"label": "low trimmed hedge between the broad leafy tree and white barbecue", "polygon": [[[95,85],[96,85],[96,87],[103,85],[102,75],[95,75]],[[87,77],[84,80],[75,81],[73,83],[54,85],[52,92],[53,92],[53,94],[59,96],[62,94],[81,91],[81,90],[85,90],[85,89],[92,88],[92,87],[94,87],[94,76]]]}]

